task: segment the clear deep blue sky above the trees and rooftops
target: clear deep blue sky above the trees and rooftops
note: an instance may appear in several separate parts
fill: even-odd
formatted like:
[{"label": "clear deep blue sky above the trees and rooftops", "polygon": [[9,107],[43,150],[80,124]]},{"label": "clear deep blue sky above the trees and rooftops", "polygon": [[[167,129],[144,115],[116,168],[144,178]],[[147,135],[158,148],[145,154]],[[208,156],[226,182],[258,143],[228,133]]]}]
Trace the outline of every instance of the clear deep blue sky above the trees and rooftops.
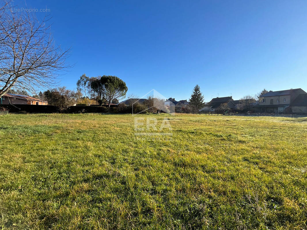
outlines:
[{"label": "clear deep blue sky above the trees and rooftops", "polygon": [[[24,0],[15,0],[24,6]],[[116,75],[139,97],[240,99],[263,88],[307,91],[306,1],[26,1],[49,8],[56,44],[72,48],[61,85]]]}]

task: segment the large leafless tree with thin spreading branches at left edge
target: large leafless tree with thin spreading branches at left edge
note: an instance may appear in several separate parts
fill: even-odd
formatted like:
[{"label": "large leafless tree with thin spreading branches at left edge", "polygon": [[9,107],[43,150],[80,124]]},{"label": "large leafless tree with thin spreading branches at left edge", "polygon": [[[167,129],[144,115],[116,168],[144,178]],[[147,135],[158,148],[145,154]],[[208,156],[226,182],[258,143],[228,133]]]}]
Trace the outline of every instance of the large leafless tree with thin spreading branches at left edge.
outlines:
[{"label": "large leafless tree with thin spreading branches at left edge", "polygon": [[11,88],[35,94],[36,89],[57,85],[57,76],[65,66],[68,50],[55,46],[46,26],[29,12],[0,7],[0,97]]}]

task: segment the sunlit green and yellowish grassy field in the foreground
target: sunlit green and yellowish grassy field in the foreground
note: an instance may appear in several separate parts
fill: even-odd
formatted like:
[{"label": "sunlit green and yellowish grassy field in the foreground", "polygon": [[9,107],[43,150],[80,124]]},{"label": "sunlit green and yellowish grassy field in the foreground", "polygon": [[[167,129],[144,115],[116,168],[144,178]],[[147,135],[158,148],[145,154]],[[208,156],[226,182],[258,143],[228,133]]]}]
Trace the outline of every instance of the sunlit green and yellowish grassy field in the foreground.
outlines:
[{"label": "sunlit green and yellowish grassy field in the foreground", "polygon": [[307,229],[307,119],[0,116],[0,228]]}]

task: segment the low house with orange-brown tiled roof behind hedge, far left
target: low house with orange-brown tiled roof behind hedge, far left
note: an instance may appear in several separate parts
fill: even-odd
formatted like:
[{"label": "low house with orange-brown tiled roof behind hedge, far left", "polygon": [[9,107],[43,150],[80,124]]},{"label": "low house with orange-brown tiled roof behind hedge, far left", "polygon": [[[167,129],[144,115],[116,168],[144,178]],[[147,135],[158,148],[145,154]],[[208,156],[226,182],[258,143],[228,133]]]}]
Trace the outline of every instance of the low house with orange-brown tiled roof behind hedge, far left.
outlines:
[{"label": "low house with orange-brown tiled roof behind hedge, far left", "polygon": [[10,105],[10,104],[19,104],[19,105],[48,105],[48,102],[33,98],[26,95],[19,94],[4,94],[2,98],[0,98],[0,104],[2,105]]}]

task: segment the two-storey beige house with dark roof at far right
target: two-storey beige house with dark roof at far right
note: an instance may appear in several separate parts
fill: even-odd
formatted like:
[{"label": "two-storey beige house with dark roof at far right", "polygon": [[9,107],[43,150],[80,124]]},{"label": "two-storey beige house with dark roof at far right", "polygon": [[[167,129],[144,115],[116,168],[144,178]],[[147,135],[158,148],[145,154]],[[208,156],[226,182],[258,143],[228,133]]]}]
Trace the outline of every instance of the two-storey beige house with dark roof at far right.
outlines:
[{"label": "two-storey beige house with dark roof at far right", "polygon": [[[304,110],[298,107],[304,107],[305,94],[307,93],[301,88],[270,91],[259,98],[259,104],[255,106],[255,110],[261,113],[291,113],[292,106],[295,111]],[[296,98],[298,98],[297,101]]]}]

